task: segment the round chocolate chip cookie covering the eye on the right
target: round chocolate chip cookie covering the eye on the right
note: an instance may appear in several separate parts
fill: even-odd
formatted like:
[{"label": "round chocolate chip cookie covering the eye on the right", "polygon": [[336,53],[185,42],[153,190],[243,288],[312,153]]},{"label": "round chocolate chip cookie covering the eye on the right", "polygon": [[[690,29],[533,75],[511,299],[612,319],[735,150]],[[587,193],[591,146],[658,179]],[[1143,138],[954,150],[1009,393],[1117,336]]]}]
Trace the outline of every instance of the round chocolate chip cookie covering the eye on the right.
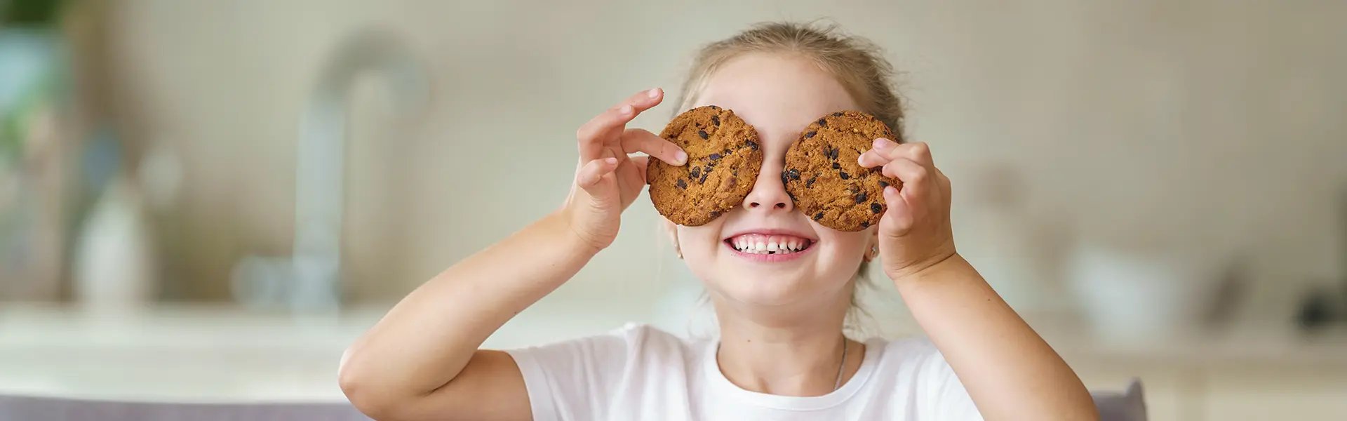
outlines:
[{"label": "round chocolate chip cookie covering the eye on the right", "polygon": [[839,111],[810,123],[785,152],[781,181],[795,206],[823,227],[861,231],[880,223],[884,188],[902,188],[881,167],[857,163],[874,139],[894,139],[893,131],[869,113]]}]

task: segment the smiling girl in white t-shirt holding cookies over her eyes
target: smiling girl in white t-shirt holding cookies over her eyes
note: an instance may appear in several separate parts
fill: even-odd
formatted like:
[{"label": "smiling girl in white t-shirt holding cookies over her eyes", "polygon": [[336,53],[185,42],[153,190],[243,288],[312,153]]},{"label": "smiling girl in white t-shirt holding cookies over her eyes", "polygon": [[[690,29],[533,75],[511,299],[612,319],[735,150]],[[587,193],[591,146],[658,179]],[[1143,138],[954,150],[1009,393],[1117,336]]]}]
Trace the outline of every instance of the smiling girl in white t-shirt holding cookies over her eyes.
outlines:
[{"label": "smiling girl in white t-shirt holding cookies over her eyes", "polygon": [[[718,339],[629,325],[478,349],[612,244],[648,159],[687,161],[678,146],[625,128],[664,101],[651,89],[579,128],[579,166],[560,209],[426,282],[353,344],[342,390],[379,420],[1098,418],[1071,367],[955,251],[950,181],[925,143],[876,139],[861,155],[904,182],[886,188],[877,227],[834,231],[793,208],[780,174],[808,123],[859,109],[901,138],[890,73],[870,43],[800,24],[757,26],[698,55],[678,111],[733,109],[757,130],[764,155],[741,206],[700,227],[668,224],[674,250],[706,283]],[[808,246],[754,259],[731,247],[744,236]],[[843,335],[857,275],[872,260],[929,341]]]}]

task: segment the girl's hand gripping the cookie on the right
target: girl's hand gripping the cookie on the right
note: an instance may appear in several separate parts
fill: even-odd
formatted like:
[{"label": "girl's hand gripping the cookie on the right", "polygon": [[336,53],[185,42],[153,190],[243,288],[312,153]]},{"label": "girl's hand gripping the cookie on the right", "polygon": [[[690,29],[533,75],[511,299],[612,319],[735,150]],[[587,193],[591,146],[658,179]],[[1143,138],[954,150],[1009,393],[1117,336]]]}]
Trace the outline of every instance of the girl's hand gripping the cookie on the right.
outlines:
[{"label": "girl's hand gripping the cookie on the right", "polygon": [[880,256],[884,273],[902,281],[954,256],[950,227],[950,178],[935,167],[925,143],[898,144],[874,139],[858,159],[863,167],[884,166],[884,175],[902,181],[902,189],[884,188],[888,210],[880,220]]}]

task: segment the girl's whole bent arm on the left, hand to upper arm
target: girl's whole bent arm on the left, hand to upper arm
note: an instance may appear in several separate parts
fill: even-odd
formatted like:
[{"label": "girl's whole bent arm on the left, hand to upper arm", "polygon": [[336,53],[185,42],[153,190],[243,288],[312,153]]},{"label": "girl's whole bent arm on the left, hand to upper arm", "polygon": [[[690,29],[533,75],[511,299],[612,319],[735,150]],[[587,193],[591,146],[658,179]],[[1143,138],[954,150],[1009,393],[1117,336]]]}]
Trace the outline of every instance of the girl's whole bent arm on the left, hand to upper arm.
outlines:
[{"label": "girl's whole bent arm on the left, hand to upper arm", "polygon": [[427,281],[346,349],[338,376],[352,403],[379,420],[529,420],[519,366],[478,347],[613,242],[645,185],[647,157],[629,152],[687,159],[648,131],[624,130],[661,100],[645,90],[586,123],[559,210]]}]

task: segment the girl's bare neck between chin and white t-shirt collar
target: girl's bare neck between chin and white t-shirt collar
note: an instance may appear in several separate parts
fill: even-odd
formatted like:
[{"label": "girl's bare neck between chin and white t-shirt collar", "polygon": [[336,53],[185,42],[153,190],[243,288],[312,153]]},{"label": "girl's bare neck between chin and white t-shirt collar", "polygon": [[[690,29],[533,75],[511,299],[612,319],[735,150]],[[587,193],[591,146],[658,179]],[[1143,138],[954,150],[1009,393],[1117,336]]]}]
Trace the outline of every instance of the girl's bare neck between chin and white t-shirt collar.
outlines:
[{"label": "girl's bare neck between chin and white t-shirt collar", "polygon": [[768,317],[764,310],[717,305],[721,322],[721,347],[717,363],[721,372],[745,390],[792,397],[816,397],[835,390],[838,371],[846,348],[845,383],[861,367],[862,344],[843,347],[842,322],[849,301],[820,312],[784,310],[784,314],[811,317]]}]

